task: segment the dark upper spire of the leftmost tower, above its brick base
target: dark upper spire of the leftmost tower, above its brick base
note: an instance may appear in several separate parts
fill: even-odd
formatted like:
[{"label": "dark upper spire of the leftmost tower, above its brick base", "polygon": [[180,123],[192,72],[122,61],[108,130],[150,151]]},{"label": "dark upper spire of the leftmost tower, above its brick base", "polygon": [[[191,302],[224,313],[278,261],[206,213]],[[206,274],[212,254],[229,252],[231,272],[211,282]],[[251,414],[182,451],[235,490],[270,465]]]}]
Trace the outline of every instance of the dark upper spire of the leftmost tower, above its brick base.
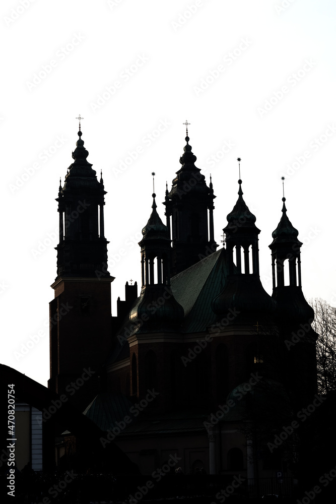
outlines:
[{"label": "dark upper spire of the leftmost tower, above its brick base", "polygon": [[57,278],[97,277],[105,273],[107,243],[104,236],[104,190],[102,171],[100,182],[82,140],[81,120],[74,162],[67,170],[64,186],[58,191],[59,244],[57,245]]}]

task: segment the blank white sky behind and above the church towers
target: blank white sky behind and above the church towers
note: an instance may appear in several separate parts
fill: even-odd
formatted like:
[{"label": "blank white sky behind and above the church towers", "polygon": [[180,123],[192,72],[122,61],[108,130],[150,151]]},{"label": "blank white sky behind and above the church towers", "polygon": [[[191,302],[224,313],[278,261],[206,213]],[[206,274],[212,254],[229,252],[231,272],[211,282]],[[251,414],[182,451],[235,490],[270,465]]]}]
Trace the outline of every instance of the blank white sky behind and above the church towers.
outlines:
[{"label": "blank white sky behind and above the church towers", "polygon": [[[261,280],[271,293],[268,245],[284,175],[288,216],[305,243],[303,292],[336,304],[332,0],[3,0],[0,23],[2,363],[47,383],[55,198],[72,163],[79,113],[88,161],[103,170],[108,192],[113,314],[126,280],[140,284],[140,247],[130,243],[151,212],[152,171],[165,219],[160,202],[180,167],[185,118],[196,166],[208,183],[212,173],[217,242],[237,200],[240,156],[244,199],[261,229]],[[160,123],[167,125],[151,141]],[[138,158],[119,170],[137,147]]]}]

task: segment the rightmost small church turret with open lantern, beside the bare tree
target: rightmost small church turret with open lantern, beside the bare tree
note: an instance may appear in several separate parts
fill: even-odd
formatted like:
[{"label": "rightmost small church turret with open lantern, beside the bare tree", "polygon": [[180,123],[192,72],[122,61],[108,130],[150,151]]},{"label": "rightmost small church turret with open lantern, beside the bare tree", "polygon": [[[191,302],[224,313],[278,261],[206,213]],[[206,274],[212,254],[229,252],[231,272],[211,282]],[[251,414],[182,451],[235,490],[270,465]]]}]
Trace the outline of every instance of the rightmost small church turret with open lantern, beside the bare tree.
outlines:
[{"label": "rightmost small church turret with open lantern, beside the bare tree", "polygon": [[288,370],[287,386],[299,408],[308,404],[316,392],[317,334],[311,328],[314,310],[307,303],[301,286],[302,242],[287,216],[285,195],[282,201],[282,217],[269,245],[272,251],[272,297],[277,301],[282,359]]}]

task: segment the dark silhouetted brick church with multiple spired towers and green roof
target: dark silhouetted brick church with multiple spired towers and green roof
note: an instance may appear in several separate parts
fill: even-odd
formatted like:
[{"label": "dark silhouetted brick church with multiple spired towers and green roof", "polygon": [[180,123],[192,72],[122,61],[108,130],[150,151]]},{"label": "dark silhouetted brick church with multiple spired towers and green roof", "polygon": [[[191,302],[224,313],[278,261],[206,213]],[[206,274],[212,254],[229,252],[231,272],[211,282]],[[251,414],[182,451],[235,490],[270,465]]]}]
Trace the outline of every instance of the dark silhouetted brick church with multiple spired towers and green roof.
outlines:
[{"label": "dark silhouetted brick church with multiple spired towers and green roof", "polygon": [[217,250],[213,185],[195,166],[187,133],[166,189],[166,223],[153,194],[142,230],[140,296],[137,284],[126,283],[112,317],[106,192],[78,135],[56,200],[49,388],[68,391],[105,432],[102,446],[113,441],[142,474],[174,460],[172,470],[185,474],[198,468],[241,475],[251,485],[261,477],[280,484],[292,474],[297,440],[283,426],[317,401],[314,313],[302,293],[302,243],[285,198],[270,245],[270,296],[259,278],[260,230],[242,181]]}]

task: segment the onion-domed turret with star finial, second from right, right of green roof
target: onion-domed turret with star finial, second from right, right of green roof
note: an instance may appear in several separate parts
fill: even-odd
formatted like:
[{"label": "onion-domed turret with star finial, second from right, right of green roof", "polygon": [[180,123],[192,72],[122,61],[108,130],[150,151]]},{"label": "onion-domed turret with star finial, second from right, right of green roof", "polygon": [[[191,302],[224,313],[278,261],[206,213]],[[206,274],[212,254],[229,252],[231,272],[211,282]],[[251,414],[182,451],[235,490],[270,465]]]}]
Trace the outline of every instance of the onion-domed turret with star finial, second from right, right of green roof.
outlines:
[{"label": "onion-domed turret with star finial, second from right, right of green roof", "polygon": [[[238,158],[240,162],[240,158]],[[221,328],[232,390],[248,380],[250,373],[275,376],[274,313],[276,301],[264,290],[259,277],[259,250],[256,218],[243,199],[242,180],[238,180],[238,200],[227,216],[225,234],[228,275],[222,292],[213,300],[212,309]]]}]

